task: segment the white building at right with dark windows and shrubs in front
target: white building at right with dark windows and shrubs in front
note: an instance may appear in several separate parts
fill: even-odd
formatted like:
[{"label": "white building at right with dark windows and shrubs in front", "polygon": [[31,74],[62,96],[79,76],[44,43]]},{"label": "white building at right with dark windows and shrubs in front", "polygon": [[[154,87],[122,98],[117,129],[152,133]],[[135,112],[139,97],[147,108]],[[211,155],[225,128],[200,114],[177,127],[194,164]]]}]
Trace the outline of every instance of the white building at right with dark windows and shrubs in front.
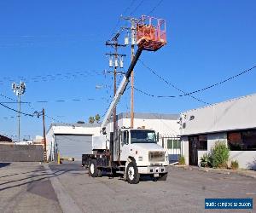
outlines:
[{"label": "white building at right with dark windows and shrubs in front", "polygon": [[186,164],[199,165],[216,141],[230,147],[230,161],[256,169],[256,94],[181,113],[180,129]]}]

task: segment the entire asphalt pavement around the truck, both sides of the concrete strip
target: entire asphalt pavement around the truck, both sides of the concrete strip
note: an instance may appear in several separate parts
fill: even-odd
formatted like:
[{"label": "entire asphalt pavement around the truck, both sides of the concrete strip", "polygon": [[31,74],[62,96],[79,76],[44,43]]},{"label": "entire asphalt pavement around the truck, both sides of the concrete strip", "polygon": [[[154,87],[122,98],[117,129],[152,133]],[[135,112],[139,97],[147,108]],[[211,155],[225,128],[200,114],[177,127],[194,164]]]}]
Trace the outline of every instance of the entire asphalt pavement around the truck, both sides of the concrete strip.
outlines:
[{"label": "entire asphalt pavement around the truck, both sides of the concrete strip", "polygon": [[255,212],[256,179],[170,167],[167,181],[130,185],[80,164],[0,163],[0,212],[253,212],[205,210],[206,198],[253,198]]}]

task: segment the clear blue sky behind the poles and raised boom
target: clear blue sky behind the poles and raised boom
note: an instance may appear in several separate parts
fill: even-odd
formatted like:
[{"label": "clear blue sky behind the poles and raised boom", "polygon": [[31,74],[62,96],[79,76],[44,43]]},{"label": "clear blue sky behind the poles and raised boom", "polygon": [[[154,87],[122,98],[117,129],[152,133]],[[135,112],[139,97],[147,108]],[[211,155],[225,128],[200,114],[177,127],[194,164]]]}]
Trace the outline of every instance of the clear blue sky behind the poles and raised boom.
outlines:
[{"label": "clear blue sky behind the poles and raised boom", "polygon": [[[65,123],[87,122],[90,115],[103,114],[113,95],[113,76],[102,73],[111,70],[105,53],[112,49],[104,43],[117,23],[116,30],[127,26],[124,20],[118,22],[120,14],[139,17],[152,9],[152,15],[166,19],[168,43],[155,53],[144,51],[141,60],[177,88],[201,89],[255,66],[255,1],[9,0],[0,2],[0,93],[16,99],[11,83],[23,79],[22,101],[32,104],[22,104],[22,112],[44,107],[50,117]],[[130,47],[119,53],[127,54],[127,68]],[[195,96],[214,103],[249,95],[255,93],[255,79],[253,70]],[[153,95],[181,95],[140,62],[135,85]],[[9,99],[0,96],[0,101]],[[202,106],[189,96],[153,98],[135,92],[136,112],[178,113]],[[118,112],[126,111],[130,89],[118,106]],[[1,107],[0,134],[17,135],[15,116]],[[52,121],[46,119],[47,128]],[[21,135],[42,135],[41,118],[22,116]]]}]

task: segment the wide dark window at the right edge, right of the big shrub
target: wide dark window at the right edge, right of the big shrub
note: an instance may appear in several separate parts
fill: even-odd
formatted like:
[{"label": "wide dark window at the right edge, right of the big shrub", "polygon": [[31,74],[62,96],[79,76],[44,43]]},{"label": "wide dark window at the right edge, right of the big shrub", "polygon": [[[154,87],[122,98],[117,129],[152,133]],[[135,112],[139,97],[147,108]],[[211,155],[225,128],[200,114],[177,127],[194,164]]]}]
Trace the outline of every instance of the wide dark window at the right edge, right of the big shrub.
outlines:
[{"label": "wide dark window at the right edge, right of the big shrub", "polygon": [[231,151],[256,151],[256,130],[229,132],[228,143]]}]

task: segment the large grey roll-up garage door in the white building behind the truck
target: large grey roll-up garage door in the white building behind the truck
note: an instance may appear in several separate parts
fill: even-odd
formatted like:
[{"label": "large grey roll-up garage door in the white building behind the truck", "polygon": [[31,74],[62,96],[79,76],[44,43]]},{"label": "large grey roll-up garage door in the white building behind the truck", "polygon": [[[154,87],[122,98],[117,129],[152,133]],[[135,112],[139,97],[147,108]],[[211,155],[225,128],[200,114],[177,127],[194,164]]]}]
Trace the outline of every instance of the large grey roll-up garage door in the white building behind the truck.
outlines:
[{"label": "large grey roll-up garage door in the white building behind the truck", "polygon": [[82,158],[91,153],[92,135],[55,135],[55,145],[62,158]]}]

